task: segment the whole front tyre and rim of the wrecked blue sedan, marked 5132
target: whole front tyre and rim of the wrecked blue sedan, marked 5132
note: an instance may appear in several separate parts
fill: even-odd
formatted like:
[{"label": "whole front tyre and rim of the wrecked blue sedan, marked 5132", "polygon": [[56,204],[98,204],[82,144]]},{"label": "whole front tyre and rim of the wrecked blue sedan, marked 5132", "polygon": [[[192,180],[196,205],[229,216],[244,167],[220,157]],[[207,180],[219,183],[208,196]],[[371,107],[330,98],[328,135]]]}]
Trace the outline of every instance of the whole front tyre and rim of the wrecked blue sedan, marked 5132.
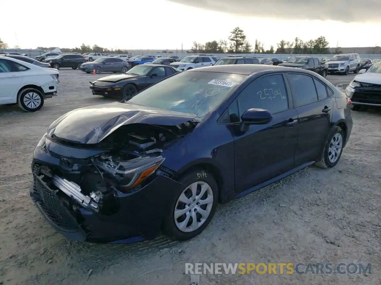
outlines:
[{"label": "whole front tyre and rim of the wrecked blue sedan, marked 5132", "polygon": [[184,174],[178,182],[186,185],[171,199],[164,218],[164,233],[185,241],[200,234],[210,223],[218,203],[218,185],[213,175],[199,168]]}]

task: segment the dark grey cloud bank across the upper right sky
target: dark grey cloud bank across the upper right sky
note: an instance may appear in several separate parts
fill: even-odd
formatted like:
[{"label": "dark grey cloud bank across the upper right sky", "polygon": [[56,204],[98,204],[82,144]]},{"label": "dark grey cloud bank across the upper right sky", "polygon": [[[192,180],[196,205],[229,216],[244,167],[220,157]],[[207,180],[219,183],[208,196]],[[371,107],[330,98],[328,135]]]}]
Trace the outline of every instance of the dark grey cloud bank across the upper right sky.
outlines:
[{"label": "dark grey cloud bank across the upper right sky", "polygon": [[[381,0],[169,0],[252,17],[340,22],[381,22]],[[333,27],[334,28],[334,27]]]}]

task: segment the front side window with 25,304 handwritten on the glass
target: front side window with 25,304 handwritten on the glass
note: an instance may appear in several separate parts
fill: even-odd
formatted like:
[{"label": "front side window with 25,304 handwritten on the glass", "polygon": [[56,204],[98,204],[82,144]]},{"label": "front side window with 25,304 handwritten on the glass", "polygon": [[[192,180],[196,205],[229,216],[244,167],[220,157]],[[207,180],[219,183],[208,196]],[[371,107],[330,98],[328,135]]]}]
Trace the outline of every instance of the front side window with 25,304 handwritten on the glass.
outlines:
[{"label": "front side window with 25,304 handwritten on the glass", "polygon": [[255,79],[242,90],[238,100],[240,116],[250,108],[266,109],[272,114],[287,110],[288,99],[282,74]]}]

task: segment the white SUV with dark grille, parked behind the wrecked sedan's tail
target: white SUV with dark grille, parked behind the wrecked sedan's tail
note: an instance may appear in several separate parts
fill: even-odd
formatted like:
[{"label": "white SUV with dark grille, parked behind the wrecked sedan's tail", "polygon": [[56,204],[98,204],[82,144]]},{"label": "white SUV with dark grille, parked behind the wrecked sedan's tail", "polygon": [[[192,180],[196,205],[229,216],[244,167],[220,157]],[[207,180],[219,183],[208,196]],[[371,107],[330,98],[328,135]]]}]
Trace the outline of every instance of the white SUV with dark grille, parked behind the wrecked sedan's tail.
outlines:
[{"label": "white SUV with dark grille, parked behind the wrecked sedan's tail", "polygon": [[325,64],[328,64],[328,73],[348,74],[349,71],[358,73],[361,66],[361,59],[360,55],[357,53],[338,54],[328,60]]}]

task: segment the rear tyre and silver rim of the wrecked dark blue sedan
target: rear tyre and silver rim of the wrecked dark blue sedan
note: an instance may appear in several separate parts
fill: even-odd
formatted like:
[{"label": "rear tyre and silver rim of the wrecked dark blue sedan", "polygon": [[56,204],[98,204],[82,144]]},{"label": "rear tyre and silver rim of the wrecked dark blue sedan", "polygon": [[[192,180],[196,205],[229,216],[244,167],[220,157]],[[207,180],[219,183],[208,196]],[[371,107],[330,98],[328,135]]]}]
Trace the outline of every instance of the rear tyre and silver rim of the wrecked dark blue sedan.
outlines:
[{"label": "rear tyre and silver rim of the wrecked dark blue sedan", "polygon": [[323,148],[320,161],[317,162],[316,165],[321,168],[332,168],[335,166],[343,153],[345,139],[345,132],[341,127],[332,127]]}]

